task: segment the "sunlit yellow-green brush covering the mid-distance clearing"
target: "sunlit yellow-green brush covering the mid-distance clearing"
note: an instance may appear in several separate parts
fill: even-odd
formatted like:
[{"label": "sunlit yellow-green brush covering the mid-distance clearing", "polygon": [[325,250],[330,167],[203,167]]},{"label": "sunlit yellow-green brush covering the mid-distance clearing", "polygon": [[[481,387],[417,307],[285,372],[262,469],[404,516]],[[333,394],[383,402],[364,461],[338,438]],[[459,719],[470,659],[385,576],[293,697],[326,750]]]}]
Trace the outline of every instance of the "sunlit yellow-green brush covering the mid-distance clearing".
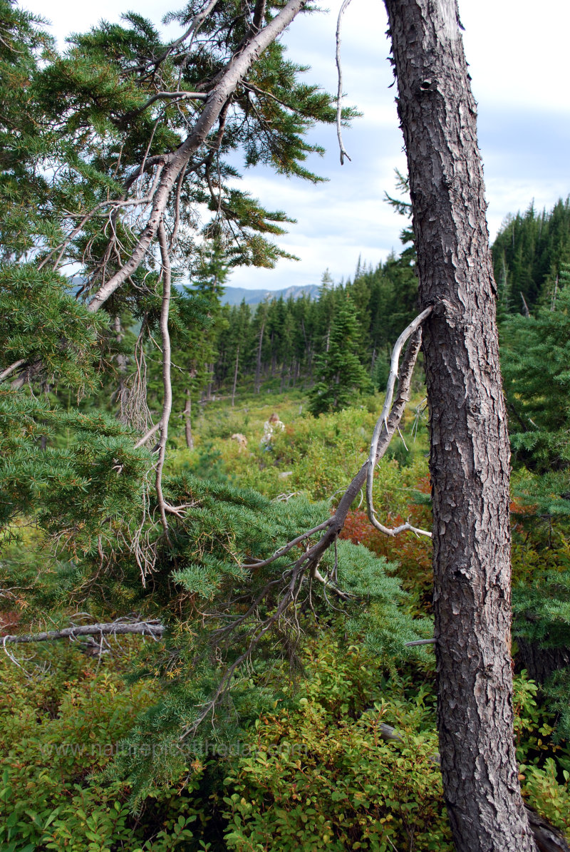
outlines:
[{"label": "sunlit yellow-green brush covering the mid-distance clearing", "polygon": [[[377,475],[377,502],[393,512],[400,505],[403,508],[406,500],[396,493],[402,482],[395,484],[390,462],[393,470],[414,468],[407,477],[410,483],[427,473],[427,434],[423,414],[416,414],[416,406],[421,409],[419,397],[404,417],[404,439],[396,437],[392,441]],[[270,399],[256,397],[250,406],[240,409],[213,403],[199,421],[196,449],[187,451],[179,442],[169,469],[190,469],[210,476],[215,473],[242,487],[255,488],[269,498],[284,492],[303,492],[314,500],[339,498],[366,461],[381,408],[379,394],[366,397],[359,406],[317,418],[308,415],[302,398],[293,401],[277,394]],[[263,423],[273,412],[279,415],[285,429],[275,434],[268,448],[262,444]],[[245,448],[232,440],[234,434],[245,435]]]}]

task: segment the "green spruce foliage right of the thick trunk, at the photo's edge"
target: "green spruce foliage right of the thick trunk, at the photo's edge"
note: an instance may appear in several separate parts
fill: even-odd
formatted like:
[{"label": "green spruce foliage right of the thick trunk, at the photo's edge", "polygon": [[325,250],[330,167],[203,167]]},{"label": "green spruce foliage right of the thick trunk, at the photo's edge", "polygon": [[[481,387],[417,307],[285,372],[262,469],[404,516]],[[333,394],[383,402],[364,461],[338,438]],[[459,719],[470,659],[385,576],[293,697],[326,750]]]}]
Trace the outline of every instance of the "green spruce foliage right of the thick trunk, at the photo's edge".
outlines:
[{"label": "green spruce foliage right of the thick trunk, at the photo's edge", "polygon": [[[550,302],[550,304],[548,303]],[[516,660],[541,684],[570,734],[570,267],[562,265],[556,302],[502,329],[502,364],[516,475],[515,520],[533,548],[533,572],[513,589]],[[553,544],[562,542],[561,548]],[[523,547],[524,545],[519,545]],[[538,557],[537,557],[538,554]]]}]

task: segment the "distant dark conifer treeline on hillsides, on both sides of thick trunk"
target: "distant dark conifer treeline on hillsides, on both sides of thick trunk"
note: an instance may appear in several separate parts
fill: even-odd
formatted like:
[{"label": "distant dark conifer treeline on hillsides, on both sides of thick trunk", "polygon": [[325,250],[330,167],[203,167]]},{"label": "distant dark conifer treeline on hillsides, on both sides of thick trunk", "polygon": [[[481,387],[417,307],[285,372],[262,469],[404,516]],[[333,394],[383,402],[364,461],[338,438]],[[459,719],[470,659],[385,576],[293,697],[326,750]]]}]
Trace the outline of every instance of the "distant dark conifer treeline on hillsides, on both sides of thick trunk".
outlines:
[{"label": "distant dark conifer treeline on hillsides, on both sides of thick trunk", "polygon": [[[550,306],[560,288],[561,268],[570,262],[570,198],[560,199],[550,212],[538,213],[531,204],[524,214],[507,217],[492,245],[492,257],[501,319]],[[210,266],[202,268],[199,289],[204,292],[206,286],[211,295],[216,292],[212,282],[226,277],[219,258],[210,258]],[[209,280],[210,285],[204,285]],[[314,383],[315,357],[328,351],[338,306],[347,297],[360,329],[357,339],[347,343],[356,345],[362,366],[377,386],[382,385],[390,349],[416,313],[411,246],[376,268],[359,261],[354,278],[336,286],[327,270],[317,300],[302,296],[255,308],[245,302],[217,308],[208,335],[211,363],[196,370],[193,393],[197,399],[210,399],[234,383],[245,382],[256,391],[262,385],[285,390]]]}]

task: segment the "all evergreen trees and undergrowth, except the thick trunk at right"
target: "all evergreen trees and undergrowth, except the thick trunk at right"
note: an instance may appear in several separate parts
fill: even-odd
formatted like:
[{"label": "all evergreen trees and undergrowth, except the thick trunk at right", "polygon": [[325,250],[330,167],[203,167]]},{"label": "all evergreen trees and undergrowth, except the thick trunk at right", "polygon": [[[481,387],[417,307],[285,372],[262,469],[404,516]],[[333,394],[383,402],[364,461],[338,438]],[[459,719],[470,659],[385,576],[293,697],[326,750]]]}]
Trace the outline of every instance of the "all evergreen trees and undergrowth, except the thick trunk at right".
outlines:
[{"label": "all evergreen trees and undergrowth, except the thick trunk at right", "polygon": [[[233,268],[284,255],[288,221],[246,174],[235,188],[236,153],[320,181],[307,131],[336,120],[277,40],[198,138],[290,6],[191,0],[178,41],[130,13],[60,52],[0,0],[3,852],[455,849],[413,337],[400,419],[378,421],[417,314],[406,178],[387,197],[400,254],[327,269],[318,298],[221,301]],[[516,757],[567,849],[570,197],[508,217],[492,263]],[[396,536],[354,485],[375,424],[375,513]]]}]

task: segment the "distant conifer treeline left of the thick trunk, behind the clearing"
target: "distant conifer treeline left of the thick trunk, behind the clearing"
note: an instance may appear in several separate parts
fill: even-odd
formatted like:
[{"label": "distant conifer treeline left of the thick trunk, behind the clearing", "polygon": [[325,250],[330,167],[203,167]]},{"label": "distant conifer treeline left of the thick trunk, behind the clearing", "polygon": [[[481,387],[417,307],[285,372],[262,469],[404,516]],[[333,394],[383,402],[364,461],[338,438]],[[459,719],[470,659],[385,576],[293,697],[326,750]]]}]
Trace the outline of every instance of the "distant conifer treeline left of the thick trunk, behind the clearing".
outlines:
[{"label": "distant conifer treeline left of the thick trunk, behind the clearing", "polygon": [[254,309],[245,302],[222,308],[214,387],[233,382],[236,361],[239,380],[253,381],[256,390],[269,380],[276,389],[314,381],[315,358],[328,351],[338,306],[347,297],[360,330],[354,343],[362,365],[374,375],[388,363],[389,349],[415,314],[413,252],[391,256],[375,269],[359,262],[354,279],[337,286],[324,273],[318,300],[302,296],[262,302]]}]

